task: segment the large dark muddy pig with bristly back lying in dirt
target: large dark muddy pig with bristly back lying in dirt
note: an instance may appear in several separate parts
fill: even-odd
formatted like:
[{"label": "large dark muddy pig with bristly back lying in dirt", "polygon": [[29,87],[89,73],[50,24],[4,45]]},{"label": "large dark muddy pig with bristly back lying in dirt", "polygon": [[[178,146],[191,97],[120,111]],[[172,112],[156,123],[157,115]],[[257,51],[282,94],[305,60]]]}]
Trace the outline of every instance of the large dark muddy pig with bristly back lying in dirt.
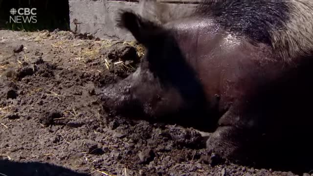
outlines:
[{"label": "large dark muddy pig with bristly back lying in dirt", "polygon": [[225,158],[263,157],[268,145],[282,152],[291,140],[307,147],[312,1],[205,1],[165,23],[126,10],[119,17],[146,52],[132,75],[103,89],[105,108],[211,131],[208,150]]}]

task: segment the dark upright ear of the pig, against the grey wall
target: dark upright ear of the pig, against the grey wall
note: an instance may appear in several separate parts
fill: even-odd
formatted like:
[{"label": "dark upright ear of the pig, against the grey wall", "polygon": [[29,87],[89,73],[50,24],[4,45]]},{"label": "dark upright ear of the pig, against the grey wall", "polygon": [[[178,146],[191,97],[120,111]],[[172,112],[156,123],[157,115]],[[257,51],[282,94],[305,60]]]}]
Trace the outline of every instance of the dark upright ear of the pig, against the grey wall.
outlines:
[{"label": "dark upright ear of the pig, against the grey wall", "polygon": [[156,22],[151,22],[135,14],[131,10],[121,10],[116,20],[117,26],[130,31],[141,44],[147,45],[161,37],[163,28]]}]

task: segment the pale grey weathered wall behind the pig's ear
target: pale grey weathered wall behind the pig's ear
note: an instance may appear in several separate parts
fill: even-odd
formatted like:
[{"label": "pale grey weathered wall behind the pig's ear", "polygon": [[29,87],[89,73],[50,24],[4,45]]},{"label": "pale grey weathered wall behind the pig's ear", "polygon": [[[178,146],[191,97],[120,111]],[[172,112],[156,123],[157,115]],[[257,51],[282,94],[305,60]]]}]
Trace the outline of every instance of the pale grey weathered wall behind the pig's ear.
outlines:
[{"label": "pale grey weathered wall behind the pig's ear", "polygon": [[[192,8],[191,4],[169,4],[173,13]],[[89,33],[99,38],[133,41],[133,36],[115,26],[119,9],[138,9],[138,2],[111,0],[69,0],[70,30],[74,33]]]}]

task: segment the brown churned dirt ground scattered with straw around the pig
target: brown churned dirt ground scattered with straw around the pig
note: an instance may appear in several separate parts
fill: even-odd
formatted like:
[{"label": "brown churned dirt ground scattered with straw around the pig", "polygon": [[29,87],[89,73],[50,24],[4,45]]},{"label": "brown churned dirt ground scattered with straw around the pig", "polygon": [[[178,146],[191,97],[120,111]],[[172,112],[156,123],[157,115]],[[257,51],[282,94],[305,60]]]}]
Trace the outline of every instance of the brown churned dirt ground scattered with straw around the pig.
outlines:
[{"label": "brown churned dirt ground scattered with straw around the pig", "polygon": [[0,175],[295,176],[210,166],[198,131],[106,114],[97,93],[142,55],[134,43],[67,31],[0,30]]}]

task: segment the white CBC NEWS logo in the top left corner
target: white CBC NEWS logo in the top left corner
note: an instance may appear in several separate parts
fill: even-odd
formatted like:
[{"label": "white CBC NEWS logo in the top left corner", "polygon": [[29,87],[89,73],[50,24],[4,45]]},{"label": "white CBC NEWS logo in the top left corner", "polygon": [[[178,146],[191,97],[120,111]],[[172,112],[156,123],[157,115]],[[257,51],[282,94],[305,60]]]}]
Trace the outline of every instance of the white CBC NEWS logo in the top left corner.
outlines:
[{"label": "white CBC NEWS logo in the top left corner", "polygon": [[36,23],[36,8],[11,8],[10,23]]}]

